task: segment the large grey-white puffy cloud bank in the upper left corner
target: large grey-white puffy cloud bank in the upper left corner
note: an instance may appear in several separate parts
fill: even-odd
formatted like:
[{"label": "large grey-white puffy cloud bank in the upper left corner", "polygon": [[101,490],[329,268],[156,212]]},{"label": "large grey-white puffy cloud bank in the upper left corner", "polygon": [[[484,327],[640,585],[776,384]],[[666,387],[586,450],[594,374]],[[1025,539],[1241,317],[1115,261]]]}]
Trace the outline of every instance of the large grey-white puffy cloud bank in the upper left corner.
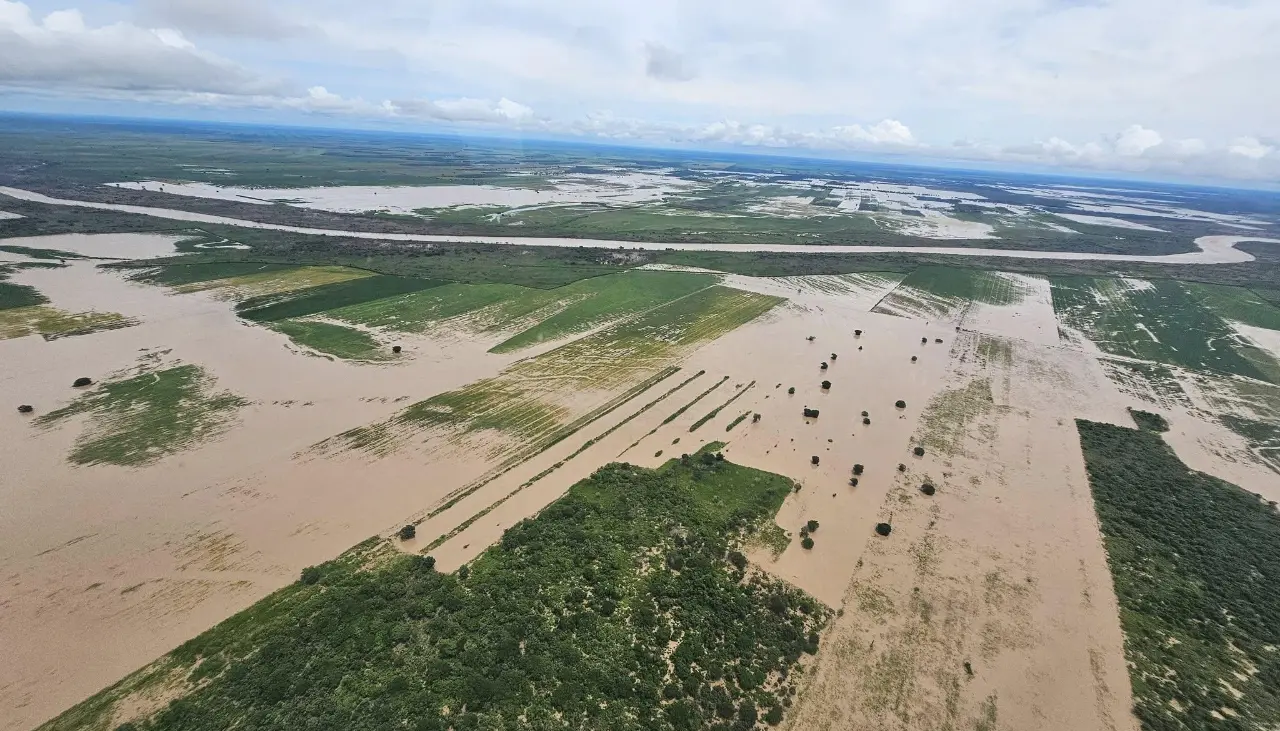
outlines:
[{"label": "large grey-white puffy cloud bank in the upper left corner", "polygon": [[0,86],[40,90],[273,93],[280,83],[204,52],[178,31],[128,23],[90,27],[78,10],[37,19],[0,0]]}]

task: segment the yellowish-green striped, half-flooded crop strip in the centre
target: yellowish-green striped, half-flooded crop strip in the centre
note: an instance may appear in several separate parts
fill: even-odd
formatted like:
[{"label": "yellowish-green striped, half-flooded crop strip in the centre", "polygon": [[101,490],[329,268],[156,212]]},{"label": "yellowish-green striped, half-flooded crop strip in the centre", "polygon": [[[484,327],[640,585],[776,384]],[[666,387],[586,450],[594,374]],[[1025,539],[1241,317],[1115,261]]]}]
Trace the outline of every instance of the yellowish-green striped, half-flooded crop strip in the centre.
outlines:
[{"label": "yellowish-green striped, half-flooded crop strip in the centre", "polygon": [[[389,421],[343,433],[319,447],[385,453],[422,430],[452,439],[480,431],[502,435],[493,449],[529,449],[557,437],[563,425],[590,410],[591,398],[671,367],[689,347],[708,342],[772,309],[781,300],[710,287],[579,338],[500,375],[415,403]],[[576,405],[573,407],[566,405]]]}]

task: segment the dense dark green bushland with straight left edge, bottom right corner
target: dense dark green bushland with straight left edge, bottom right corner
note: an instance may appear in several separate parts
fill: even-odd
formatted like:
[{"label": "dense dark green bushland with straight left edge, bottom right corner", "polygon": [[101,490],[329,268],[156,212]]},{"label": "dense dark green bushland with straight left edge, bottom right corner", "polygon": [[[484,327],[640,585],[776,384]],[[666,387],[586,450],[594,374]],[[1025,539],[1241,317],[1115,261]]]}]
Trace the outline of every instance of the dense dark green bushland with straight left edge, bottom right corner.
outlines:
[{"label": "dense dark green bushland with straight left edge, bottom right corner", "polygon": [[1158,434],[1076,424],[1143,728],[1280,725],[1280,513]]}]

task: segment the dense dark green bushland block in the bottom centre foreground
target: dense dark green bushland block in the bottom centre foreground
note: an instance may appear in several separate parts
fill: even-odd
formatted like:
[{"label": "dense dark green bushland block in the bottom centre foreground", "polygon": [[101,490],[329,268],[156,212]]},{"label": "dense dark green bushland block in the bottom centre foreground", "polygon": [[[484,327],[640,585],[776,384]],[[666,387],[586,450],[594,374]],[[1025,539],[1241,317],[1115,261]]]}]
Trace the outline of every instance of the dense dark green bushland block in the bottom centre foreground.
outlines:
[{"label": "dense dark green bushland block in the bottom centre foreground", "polygon": [[[605,466],[456,574],[366,542],[42,728],[781,722],[831,612],[740,568],[791,480],[707,457]],[[128,718],[170,679],[178,698]]]}]

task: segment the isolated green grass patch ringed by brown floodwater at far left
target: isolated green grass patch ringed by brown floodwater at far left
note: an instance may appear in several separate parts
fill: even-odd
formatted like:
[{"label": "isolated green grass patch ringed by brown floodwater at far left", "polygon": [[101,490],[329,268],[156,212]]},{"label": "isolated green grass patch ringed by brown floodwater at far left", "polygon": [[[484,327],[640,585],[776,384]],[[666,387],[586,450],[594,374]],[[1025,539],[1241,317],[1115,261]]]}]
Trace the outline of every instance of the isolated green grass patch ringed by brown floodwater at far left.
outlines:
[{"label": "isolated green grass patch ringed by brown floodwater at far left", "polygon": [[225,431],[246,403],[232,393],[216,392],[214,380],[200,367],[183,365],[102,383],[36,424],[51,428],[72,416],[88,416],[68,460],[136,467]]}]

